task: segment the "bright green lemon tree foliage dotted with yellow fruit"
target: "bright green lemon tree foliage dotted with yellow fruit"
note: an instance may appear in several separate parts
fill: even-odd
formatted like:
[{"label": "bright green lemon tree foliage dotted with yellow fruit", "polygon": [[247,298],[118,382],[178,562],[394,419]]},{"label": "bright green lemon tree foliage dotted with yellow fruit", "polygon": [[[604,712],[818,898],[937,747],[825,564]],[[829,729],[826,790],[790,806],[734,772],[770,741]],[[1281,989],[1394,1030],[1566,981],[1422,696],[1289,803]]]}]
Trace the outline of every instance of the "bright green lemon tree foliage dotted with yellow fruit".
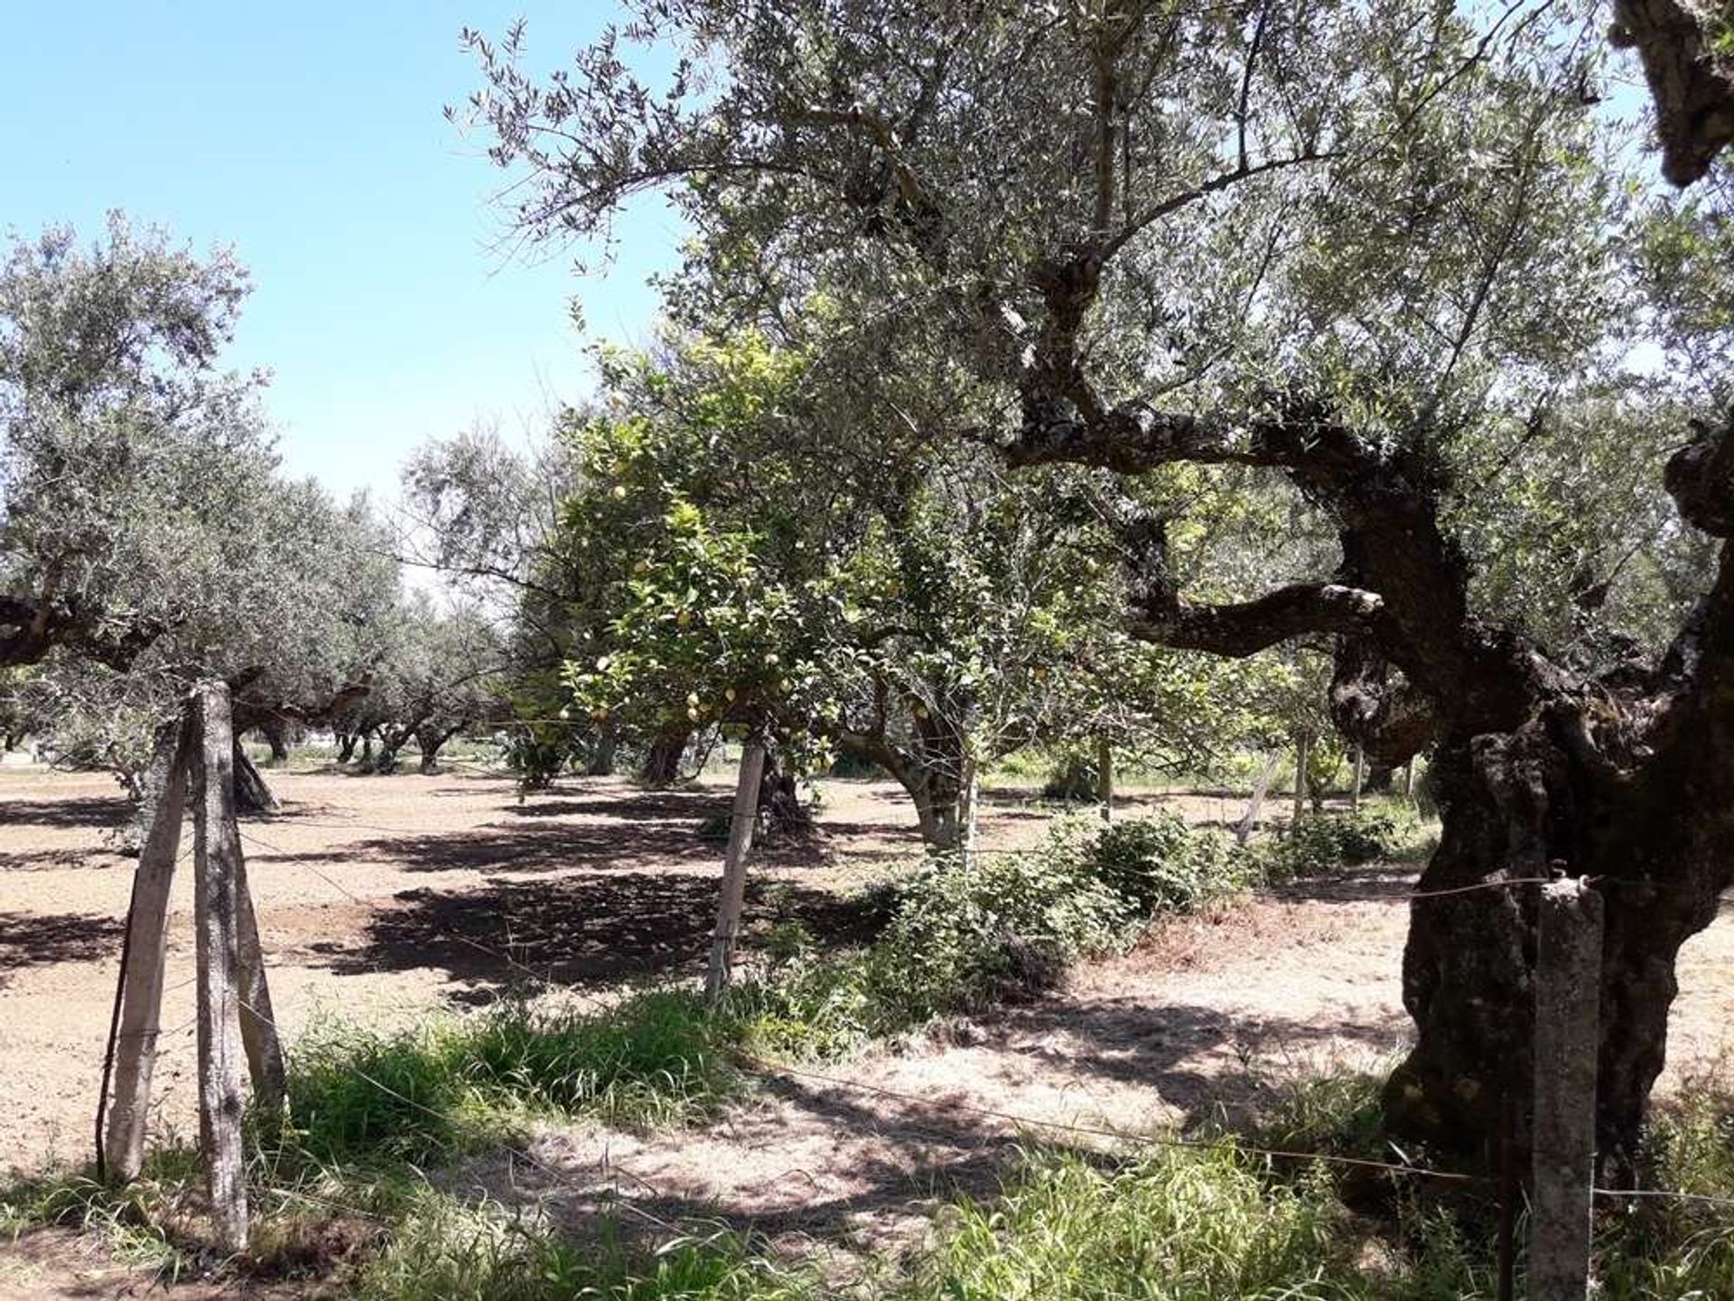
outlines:
[{"label": "bright green lemon tree foliage dotted with yellow fruit", "polygon": [[607,378],[565,430],[581,487],[560,543],[583,574],[567,685],[593,725],[758,730],[806,770],[853,755],[905,786],[933,845],[964,834],[976,770],[1032,741],[1229,734],[1202,661],[1122,631],[1079,475],[893,441],[872,474],[815,475],[820,382],[756,333],[616,356]]}]

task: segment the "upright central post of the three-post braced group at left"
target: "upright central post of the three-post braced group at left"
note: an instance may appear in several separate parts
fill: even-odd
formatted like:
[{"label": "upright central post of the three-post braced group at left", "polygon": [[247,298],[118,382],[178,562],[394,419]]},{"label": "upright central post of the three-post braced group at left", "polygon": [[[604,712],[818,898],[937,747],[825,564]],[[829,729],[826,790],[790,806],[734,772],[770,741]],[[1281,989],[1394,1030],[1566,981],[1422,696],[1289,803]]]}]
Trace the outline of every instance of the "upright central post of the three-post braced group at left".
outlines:
[{"label": "upright central post of the three-post braced group at left", "polygon": [[229,687],[192,692],[192,925],[198,937],[199,1141],[212,1225],[224,1251],[246,1247],[241,1164],[241,1001],[238,990],[241,838],[234,822],[234,737]]}]

